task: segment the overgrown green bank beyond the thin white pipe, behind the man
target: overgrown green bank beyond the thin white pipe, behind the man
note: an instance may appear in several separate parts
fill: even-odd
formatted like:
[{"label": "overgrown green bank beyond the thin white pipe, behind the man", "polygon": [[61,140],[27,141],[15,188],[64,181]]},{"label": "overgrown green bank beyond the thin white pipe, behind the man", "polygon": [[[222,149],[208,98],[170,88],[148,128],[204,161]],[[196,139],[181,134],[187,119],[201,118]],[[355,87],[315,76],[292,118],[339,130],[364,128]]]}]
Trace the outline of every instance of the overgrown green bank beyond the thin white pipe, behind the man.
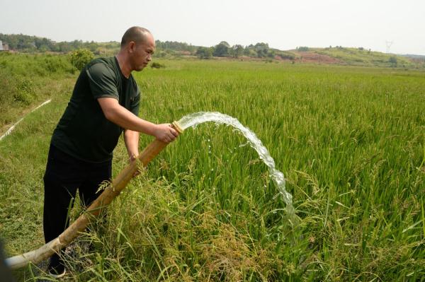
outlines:
[{"label": "overgrown green bank beyond the thin white pipe, behind the man", "polygon": [[35,105],[65,91],[76,69],[66,56],[0,53],[0,134]]}]

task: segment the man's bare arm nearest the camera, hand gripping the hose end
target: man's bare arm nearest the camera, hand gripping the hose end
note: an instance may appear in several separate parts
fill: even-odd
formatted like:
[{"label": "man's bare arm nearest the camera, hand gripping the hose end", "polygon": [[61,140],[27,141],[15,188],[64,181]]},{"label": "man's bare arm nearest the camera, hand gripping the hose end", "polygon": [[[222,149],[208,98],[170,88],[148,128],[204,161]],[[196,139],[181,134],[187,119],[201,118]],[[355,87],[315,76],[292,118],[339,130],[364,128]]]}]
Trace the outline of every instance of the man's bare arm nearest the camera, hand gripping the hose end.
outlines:
[{"label": "man's bare arm nearest the camera, hand gripping the hose end", "polygon": [[179,136],[179,132],[170,127],[170,124],[153,124],[152,122],[140,119],[121,106],[115,98],[98,98],[98,102],[106,119],[123,127],[123,129],[130,129],[131,131],[155,136],[159,141],[164,143],[174,141]]}]

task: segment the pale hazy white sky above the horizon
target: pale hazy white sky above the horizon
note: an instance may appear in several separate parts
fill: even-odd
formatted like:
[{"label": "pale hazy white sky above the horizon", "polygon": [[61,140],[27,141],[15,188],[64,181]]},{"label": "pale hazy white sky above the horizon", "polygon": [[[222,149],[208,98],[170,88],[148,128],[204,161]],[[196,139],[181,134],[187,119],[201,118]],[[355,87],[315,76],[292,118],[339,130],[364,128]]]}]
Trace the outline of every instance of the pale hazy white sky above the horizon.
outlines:
[{"label": "pale hazy white sky above the horizon", "polygon": [[0,0],[0,33],[120,41],[132,25],[157,40],[212,46],[266,42],[425,55],[425,0]]}]

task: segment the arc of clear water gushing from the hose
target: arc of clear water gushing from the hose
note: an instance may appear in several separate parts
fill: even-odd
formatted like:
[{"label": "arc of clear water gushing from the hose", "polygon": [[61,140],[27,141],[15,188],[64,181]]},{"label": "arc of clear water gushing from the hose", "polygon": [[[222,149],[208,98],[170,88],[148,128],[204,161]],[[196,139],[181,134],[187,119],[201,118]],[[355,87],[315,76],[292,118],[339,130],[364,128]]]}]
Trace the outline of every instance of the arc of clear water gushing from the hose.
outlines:
[{"label": "arc of clear water gushing from the hose", "polygon": [[228,124],[238,131],[240,131],[245,138],[249,141],[249,145],[254,148],[254,150],[259,153],[259,157],[263,162],[268,166],[271,178],[276,183],[278,187],[279,194],[282,196],[283,201],[286,204],[286,210],[291,219],[295,220],[295,211],[292,204],[292,195],[285,189],[285,177],[283,173],[279,170],[276,170],[276,164],[271,158],[270,153],[261,140],[248,128],[244,127],[239,120],[234,117],[230,117],[227,114],[222,114],[220,112],[195,112],[193,114],[188,114],[182,117],[179,120],[179,124],[183,129],[188,127],[196,127],[198,124],[203,122],[215,122],[217,124]]}]

